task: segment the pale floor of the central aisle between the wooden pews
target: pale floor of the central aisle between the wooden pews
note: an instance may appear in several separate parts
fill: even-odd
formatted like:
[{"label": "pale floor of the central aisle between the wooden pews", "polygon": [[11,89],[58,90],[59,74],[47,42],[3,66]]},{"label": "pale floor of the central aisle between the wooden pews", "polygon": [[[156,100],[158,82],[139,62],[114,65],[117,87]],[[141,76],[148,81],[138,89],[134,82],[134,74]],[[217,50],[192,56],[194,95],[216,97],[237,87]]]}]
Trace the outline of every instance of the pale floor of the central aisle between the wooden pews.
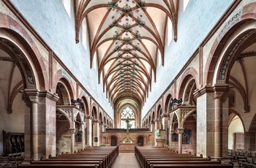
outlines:
[{"label": "pale floor of the central aisle between the wooden pews", "polygon": [[138,168],[135,153],[119,153],[114,168]]}]

